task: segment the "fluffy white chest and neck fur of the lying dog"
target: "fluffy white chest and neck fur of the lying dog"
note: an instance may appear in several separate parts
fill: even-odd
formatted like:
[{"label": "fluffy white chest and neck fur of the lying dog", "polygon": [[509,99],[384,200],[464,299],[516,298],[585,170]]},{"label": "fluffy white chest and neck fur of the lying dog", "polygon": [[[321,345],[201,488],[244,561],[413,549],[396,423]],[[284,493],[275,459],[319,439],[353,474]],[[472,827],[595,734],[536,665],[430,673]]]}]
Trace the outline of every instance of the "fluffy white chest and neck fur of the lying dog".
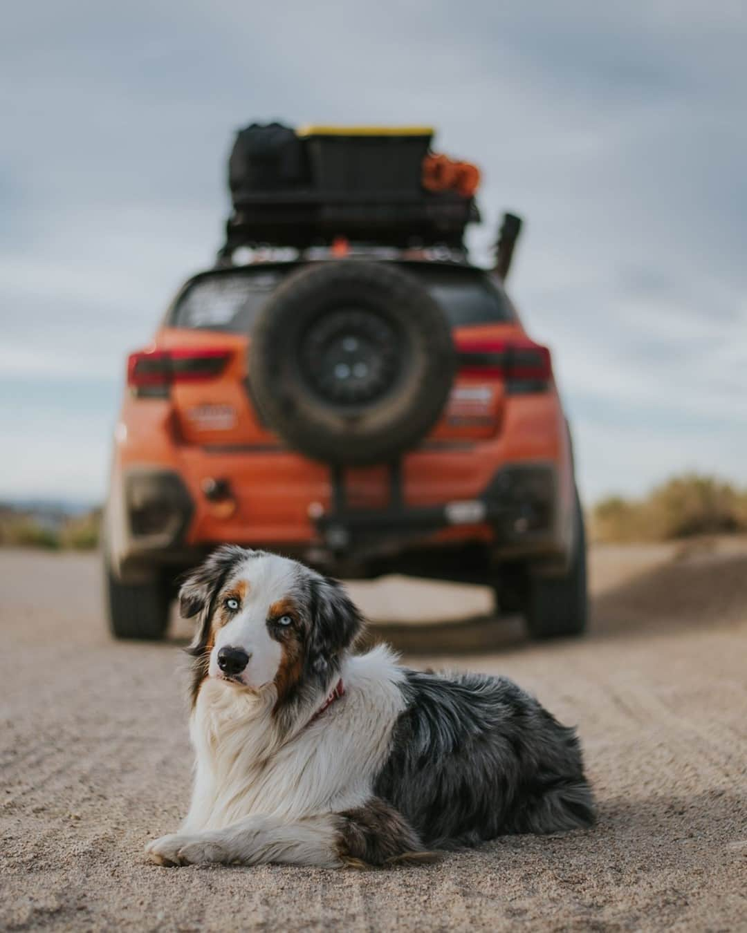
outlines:
[{"label": "fluffy white chest and neck fur of the lying dog", "polygon": [[387,648],[348,657],[345,696],[291,736],[278,734],[275,695],[207,680],[190,721],[195,780],[182,831],[224,829],[249,815],[284,820],[360,806],[388,755],[403,708],[402,670]]}]

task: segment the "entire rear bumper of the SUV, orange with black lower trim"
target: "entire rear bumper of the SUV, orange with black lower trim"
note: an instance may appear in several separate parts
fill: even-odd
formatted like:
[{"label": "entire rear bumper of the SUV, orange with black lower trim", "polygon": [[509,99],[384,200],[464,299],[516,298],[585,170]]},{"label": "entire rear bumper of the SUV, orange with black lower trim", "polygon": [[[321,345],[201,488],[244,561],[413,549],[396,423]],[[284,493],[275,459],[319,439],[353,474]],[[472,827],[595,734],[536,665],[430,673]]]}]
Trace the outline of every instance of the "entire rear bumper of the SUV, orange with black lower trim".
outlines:
[{"label": "entire rear bumper of the SUV, orange with black lower trim", "polygon": [[439,550],[445,562],[474,546],[495,561],[556,564],[571,550],[571,445],[555,395],[513,398],[493,438],[407,453],[398,496],[387,466],[345,470],[345,502],[328,466],[276,443],[180,443],[171,420],[168,403],[153,401],[118,429],[106,530],[115,567],[187,565],[222,542],[340,575],[347,564],[397,565],[412,550]]}]

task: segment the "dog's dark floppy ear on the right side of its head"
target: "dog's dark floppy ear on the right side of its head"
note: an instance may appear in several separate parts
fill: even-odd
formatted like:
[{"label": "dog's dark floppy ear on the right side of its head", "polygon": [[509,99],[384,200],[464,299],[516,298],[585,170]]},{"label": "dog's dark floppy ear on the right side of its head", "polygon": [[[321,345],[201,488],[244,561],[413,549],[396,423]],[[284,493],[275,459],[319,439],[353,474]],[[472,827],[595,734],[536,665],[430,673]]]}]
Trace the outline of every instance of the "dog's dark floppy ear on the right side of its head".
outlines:
[{"label": "dog's dark floppy ear on the right side of its head", "polygon": [[363,619],[343,585],[329,577],[312,582],[311,616],[306,660],[314,673],[324,676],[353,644]]}]

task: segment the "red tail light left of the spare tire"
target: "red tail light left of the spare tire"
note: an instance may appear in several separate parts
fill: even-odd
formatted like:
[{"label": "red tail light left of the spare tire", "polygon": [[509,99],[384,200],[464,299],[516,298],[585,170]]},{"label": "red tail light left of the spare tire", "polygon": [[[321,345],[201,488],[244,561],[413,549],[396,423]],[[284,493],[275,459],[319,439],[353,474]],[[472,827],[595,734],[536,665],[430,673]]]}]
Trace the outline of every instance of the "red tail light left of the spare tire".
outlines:
[{"label": "red tail light left of the spare tire", "polygon": [[163,397],[172,383],[203,383],[220,375],[228,350],[144,350],[127,358],[127,384],[138,395]]}]

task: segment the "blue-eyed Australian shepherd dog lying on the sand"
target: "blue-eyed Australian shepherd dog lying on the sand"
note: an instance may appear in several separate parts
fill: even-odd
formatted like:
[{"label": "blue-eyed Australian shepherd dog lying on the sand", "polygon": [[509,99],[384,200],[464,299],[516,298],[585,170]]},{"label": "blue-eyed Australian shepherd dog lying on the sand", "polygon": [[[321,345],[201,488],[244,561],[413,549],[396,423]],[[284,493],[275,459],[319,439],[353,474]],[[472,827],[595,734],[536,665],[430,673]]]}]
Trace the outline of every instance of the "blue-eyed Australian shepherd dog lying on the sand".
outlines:
[{"label": "blue-eyed Australian shepherd dog lying on the sand", "polygon": [[151,862],[384,866],[594,821],[574,730],[506,678],[353,654],[362,619],[337,581],[225,545],[179,599],[198,617],[194,787]]}]

